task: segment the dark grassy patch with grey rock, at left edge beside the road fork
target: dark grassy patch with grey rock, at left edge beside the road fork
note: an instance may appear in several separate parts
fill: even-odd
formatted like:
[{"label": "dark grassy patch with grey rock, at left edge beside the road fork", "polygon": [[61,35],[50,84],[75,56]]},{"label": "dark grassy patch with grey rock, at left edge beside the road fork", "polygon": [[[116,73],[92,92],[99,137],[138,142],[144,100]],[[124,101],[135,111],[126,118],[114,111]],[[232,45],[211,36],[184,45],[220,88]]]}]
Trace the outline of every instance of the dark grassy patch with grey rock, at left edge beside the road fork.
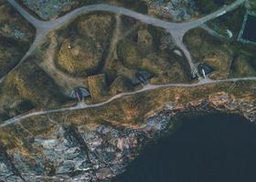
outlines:
[{"label": "dark grassy patch with grey rock, at left edge beside the road fork", "polygon": [[0,77],[25,55],[34,35],[34,28],[26,20],[10,5],[0,2]]}]

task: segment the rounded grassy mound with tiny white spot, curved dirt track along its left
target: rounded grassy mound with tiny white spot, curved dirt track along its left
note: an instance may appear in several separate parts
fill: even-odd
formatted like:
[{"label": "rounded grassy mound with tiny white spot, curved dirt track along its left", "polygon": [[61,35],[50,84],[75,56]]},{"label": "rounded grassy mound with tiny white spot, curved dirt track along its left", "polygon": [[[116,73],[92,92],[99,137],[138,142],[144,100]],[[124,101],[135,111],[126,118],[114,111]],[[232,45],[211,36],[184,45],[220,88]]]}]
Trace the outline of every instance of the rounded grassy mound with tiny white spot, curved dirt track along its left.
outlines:
[{"label": "rounded grassy mound with tiny white spot, curved dirt track along its left", "polygon": [[99,73],[108,52],[114,19],[109,14],[81,16],[65,31],[57,65],[72,76]]}]

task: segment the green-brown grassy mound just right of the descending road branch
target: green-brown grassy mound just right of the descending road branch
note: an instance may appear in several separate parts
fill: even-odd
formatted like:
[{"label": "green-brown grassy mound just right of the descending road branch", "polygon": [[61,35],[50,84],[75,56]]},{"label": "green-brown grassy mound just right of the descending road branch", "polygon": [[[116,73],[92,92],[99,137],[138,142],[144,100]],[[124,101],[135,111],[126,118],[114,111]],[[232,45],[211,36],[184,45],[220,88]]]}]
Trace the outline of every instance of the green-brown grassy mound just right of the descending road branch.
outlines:
[{"label": "green-brown grassy mound just right of the descending road branch", "polygon": [[189,31],[185,36],[185,44],[195,62],[205,62],[214,69],[211,78],[223,79],[229,76],[229,66],[233,54],[229,45],[208,35],[202,29]]}]

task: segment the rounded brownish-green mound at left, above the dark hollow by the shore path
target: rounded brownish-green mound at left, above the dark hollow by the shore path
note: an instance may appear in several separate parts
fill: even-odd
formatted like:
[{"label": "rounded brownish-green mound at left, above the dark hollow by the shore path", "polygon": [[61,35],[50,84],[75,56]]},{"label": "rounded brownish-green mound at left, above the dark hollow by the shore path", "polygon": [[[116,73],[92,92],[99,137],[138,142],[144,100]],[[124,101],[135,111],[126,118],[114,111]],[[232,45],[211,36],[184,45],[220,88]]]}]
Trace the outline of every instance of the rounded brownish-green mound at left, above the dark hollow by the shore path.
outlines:
[{"label": "rounded brownish-green mound at left, above the dark hollow by the shore path", "polygon": [[20,96],[35,105],[50,106],[65,101],[52,78],[34,63],[26,63],[8,76],[4,89],[8,95]]}]

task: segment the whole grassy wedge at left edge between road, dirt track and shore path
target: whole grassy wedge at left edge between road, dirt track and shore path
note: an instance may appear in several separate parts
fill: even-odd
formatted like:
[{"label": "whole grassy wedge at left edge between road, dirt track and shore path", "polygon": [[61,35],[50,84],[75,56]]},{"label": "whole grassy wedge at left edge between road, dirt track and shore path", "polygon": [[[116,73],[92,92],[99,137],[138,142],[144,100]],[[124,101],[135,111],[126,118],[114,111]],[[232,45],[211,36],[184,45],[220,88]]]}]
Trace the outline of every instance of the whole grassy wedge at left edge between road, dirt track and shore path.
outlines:
[{"label": "whole grassy wedge at left edge between road, dirt track and shore path", "polygon": [[27,62],[9,75],[1,86],[0,121],[36,107],[63,106],[67,101],[51,77],[33,62]]}]

